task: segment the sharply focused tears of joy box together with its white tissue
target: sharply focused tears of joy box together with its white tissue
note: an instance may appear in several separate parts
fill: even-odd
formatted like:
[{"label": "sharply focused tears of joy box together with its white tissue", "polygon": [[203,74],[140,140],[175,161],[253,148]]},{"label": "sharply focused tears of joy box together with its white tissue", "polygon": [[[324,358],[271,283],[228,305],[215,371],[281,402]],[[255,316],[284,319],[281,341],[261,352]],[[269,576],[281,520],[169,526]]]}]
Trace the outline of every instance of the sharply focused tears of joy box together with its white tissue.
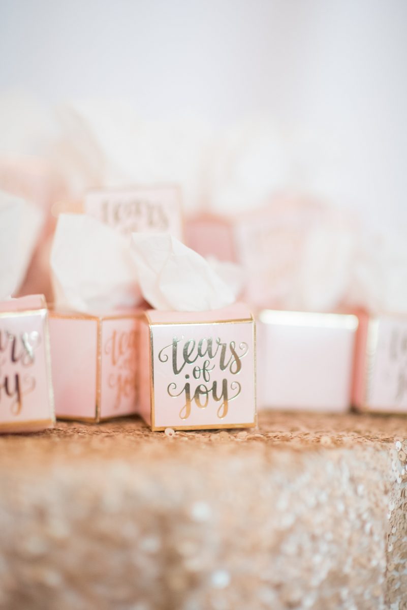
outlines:
[{"label": "sharply focused tears of joy box together with its white tissue", "polygon": [[230,285],[171,235],[133,234],[144,298],[140,414],[153,430],[256,422],[255,323]]}]

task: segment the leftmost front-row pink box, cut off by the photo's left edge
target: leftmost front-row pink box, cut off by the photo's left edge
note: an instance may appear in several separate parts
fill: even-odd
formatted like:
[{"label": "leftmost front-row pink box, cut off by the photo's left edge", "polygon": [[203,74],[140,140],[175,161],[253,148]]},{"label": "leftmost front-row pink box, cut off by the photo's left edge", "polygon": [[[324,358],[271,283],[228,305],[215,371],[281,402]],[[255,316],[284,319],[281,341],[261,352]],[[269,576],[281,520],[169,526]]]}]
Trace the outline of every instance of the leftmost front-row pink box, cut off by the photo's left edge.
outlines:
[{"label": "leftmost front-row pink box, cut off by the photo's left edge", "polygon": [[55,422],[43,296],[0,303],[0,432],[34,432]]}]

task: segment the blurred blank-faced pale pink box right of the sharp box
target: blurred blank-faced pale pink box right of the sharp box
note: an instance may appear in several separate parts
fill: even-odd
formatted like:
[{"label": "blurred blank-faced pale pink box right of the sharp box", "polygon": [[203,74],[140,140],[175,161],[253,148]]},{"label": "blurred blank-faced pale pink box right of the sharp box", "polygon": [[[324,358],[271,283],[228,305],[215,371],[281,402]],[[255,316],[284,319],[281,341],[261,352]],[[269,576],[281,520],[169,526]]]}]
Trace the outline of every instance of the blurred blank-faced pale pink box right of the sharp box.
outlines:
[{"label": "blurred blank-faced pale pink box right of the sharp box", "polygon": [[264,310],[257,321],[259,409],[344,412],[350,407],[358,318]]}]

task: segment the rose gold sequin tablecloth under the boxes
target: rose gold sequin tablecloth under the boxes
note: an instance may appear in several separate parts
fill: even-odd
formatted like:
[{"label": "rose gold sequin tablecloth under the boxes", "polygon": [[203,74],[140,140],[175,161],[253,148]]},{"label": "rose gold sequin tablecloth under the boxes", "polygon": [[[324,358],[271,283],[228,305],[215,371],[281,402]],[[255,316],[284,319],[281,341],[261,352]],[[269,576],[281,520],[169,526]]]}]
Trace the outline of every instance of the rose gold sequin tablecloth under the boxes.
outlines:
[{"label": "rose gold sequin tablecloth under the boxes", "polygon": [[407,608],[407,418],[0,437],[0,608]]}]

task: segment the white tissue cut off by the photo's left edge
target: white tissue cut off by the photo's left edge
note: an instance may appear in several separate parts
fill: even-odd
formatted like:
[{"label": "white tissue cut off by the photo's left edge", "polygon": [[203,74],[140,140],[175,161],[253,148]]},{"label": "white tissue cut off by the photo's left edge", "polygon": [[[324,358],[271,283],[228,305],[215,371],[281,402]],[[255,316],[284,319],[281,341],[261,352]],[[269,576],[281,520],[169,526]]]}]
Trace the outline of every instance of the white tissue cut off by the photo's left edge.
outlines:
[{"label": "white tissue cut off by the photo's left edge", "polygon": [[0,299],[23,283],[43,226],[43,213],[25,199],[0,191]]}]

